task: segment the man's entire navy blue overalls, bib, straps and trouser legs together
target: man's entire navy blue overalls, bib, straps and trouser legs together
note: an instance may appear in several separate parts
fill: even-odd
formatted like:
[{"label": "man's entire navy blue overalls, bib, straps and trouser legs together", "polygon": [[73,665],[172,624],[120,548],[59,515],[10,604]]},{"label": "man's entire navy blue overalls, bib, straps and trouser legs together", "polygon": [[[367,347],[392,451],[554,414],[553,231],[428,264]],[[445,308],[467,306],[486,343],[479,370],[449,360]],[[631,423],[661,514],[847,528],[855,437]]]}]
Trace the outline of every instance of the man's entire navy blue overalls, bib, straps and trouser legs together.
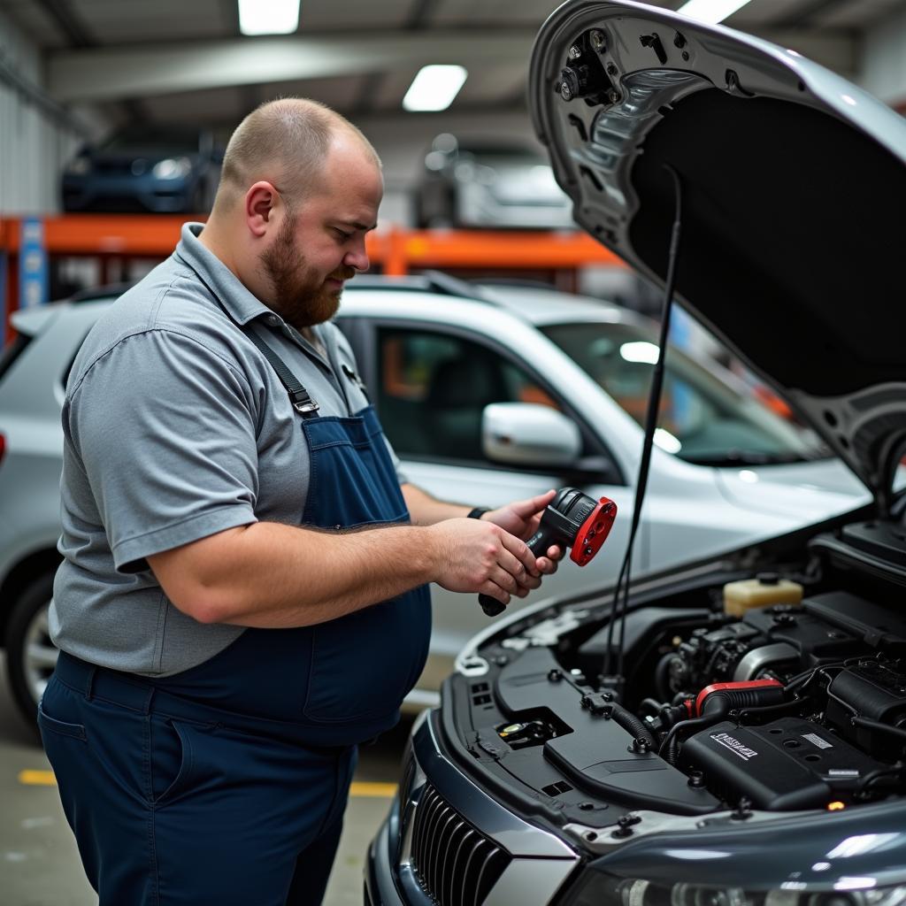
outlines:
[{"label": "man's entire navy blue overalls, bib, straps and trouser legs together", "polygon": [[[284,363],[247,335],[273,357],[300,413],[296,429],[311,457],[303,525],[408,523],[371,406],[319,416]],[[341,387],[357,380],[337,364]],[[315,626],[246,629],[173,677],[106,670],[62,652],[38,723],[101,906],[319,903],[354,744],[396,723],[429,635],[422,586]]]}]

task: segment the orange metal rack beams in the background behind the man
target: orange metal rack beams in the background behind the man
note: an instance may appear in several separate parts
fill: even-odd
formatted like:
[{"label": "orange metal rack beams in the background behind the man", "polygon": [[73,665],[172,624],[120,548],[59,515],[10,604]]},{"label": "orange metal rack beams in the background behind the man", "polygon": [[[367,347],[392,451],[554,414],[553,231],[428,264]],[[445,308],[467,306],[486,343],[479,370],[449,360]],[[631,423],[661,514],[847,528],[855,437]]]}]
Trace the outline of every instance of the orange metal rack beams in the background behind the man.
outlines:
[{"label": "orange metal rack beams in the background behind the man", "polygon": [[[45,217],[48,255],[104,259],[165,258],[179,239],[184,215],[67,214]],[[198,218],[202,219],[202,218]],[[18,252],[21,224],[0,218],[5,254],[5,323],[19,305]],[[368,254],[381,272],[399,276],[426,268],[574,270],[584,265],[622,266],[622,261],[585,233],[496,230],[410,230],[397,226],[369,234]]]}]

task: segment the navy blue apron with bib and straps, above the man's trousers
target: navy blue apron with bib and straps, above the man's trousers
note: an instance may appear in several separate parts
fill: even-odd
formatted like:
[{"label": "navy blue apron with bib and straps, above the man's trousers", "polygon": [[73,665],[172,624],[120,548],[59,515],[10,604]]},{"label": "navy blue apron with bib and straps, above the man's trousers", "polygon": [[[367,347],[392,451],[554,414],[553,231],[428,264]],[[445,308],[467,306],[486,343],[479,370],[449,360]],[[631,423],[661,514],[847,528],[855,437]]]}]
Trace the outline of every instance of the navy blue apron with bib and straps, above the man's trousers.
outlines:
[{"label": "navy blue apron with bib and straps, above the man's trousers", "polygon": [[[310,457],[302,524],[337,531],[408,524],[409,511],[373,408],[347,418],[319,416],[317,403],[276,353],[250,329],[245,333],[301,413],[297,424]],[[346,370],[332,364],[342,381]],[[347,374],[346,380],[357,379]],[[313,745],[347,745],[397,722],[400,702],[425,665],[429,637],[430,595],[423,585],[314,626],[246,629],[214,658],[154,682],[217,709],[288,722],[294,737]]]}]

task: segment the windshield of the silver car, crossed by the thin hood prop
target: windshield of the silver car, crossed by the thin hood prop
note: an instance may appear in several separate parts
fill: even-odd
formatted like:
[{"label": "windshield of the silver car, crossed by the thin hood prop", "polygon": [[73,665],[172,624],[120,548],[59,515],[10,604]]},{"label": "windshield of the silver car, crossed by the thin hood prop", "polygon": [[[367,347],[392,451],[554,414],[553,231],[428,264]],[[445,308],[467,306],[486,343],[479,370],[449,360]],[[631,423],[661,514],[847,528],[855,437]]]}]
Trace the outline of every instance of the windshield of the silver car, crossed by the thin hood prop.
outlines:
[{"label": "windshield of the silver car, crossed by the thin hood prop", "polygon": [[[540,330],[644,425],[651,375],[658,360],[655,334],[625,323],[569,323]],[[689,462],[709,466],[797,462],[828,455],[814,432],[772,409],[735,375],[706,368],[668,347],[654,442]]]}]

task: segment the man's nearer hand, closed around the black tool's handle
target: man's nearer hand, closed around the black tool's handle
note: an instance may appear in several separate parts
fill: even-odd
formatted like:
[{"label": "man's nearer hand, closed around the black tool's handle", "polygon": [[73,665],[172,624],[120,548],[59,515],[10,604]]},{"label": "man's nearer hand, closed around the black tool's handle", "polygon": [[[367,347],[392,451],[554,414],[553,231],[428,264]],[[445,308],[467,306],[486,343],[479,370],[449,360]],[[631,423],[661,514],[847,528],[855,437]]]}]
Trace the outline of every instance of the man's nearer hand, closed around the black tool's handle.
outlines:
[{"label": "man's nearer hand, closed around the black tool's handle", "polygon": [[[516,535],[476,519],[445,519],[431,525],[439,549],[435,578],[449,592],[489,594],[505,604],[541,584],[535,554]],[[552,548],[553,549],[553,548]]]}]

